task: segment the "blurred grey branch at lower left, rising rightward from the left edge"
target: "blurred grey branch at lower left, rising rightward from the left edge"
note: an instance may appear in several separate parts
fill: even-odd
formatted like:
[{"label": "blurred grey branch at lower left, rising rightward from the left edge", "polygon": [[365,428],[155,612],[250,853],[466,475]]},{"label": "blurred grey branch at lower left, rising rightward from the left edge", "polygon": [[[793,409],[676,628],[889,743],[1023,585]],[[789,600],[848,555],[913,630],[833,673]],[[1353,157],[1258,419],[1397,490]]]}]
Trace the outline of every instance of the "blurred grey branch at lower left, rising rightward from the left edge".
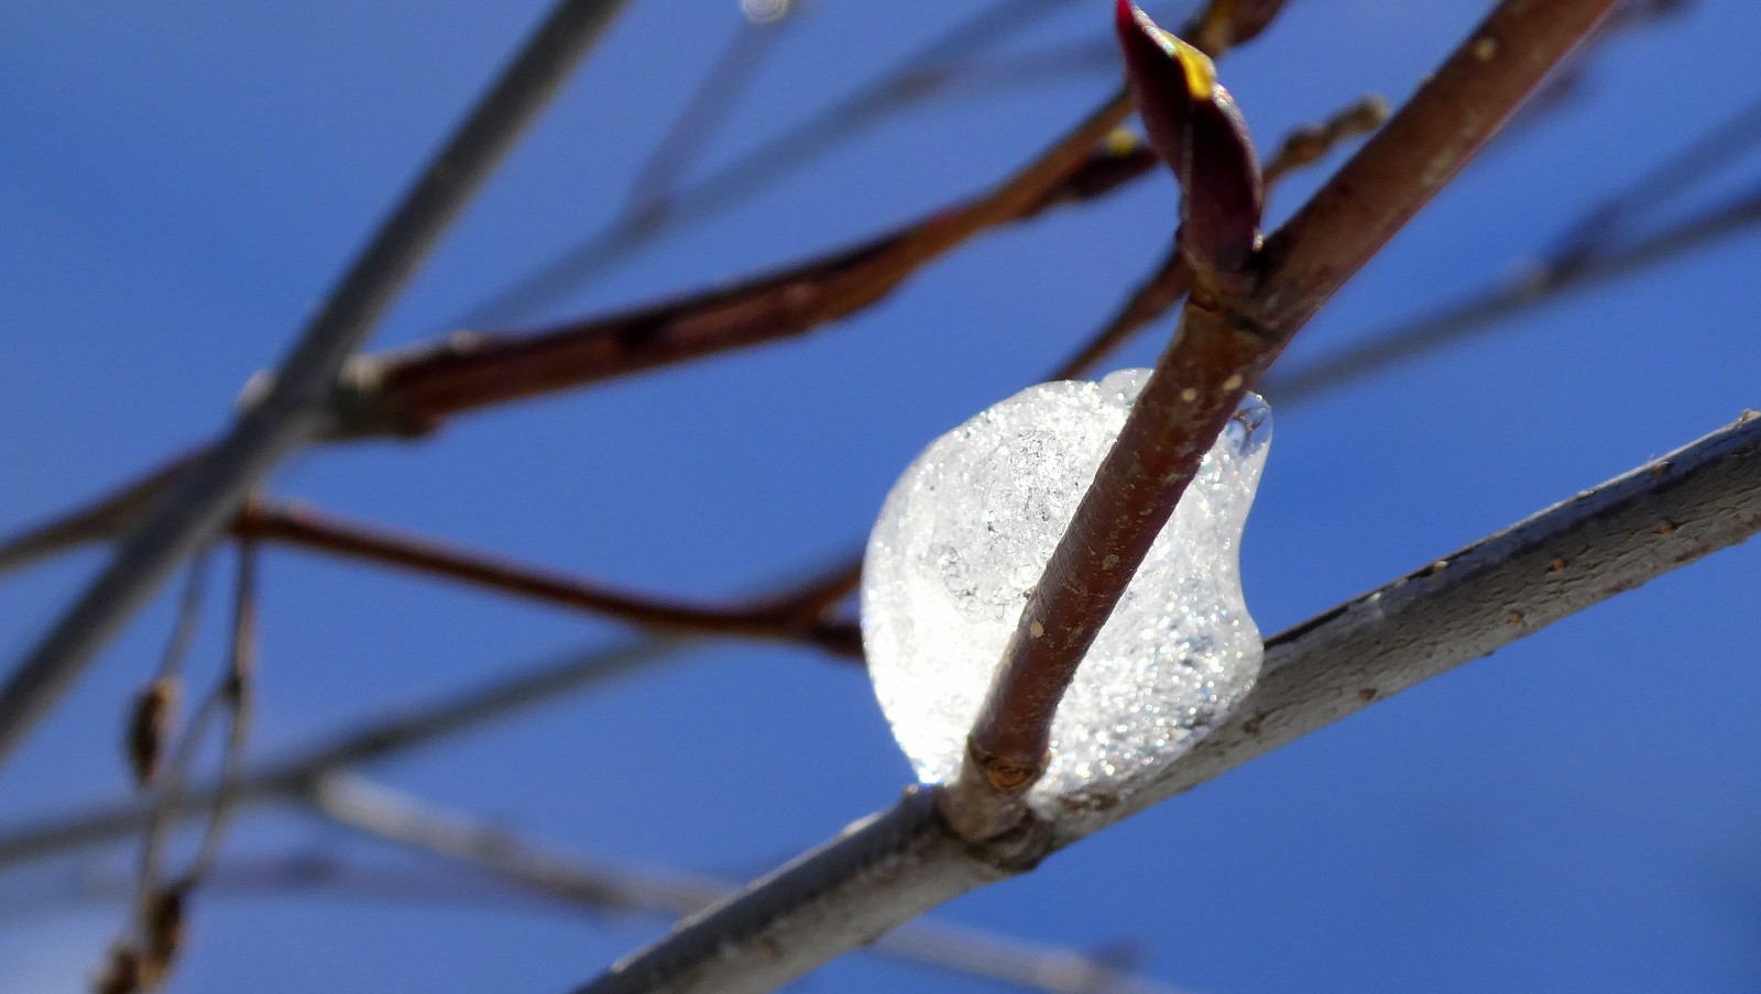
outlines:
[{"label": "blurred grey branch at lower left, rising rightward from the left edge", "polygon": [[[537,707],[567,693],[646,670],[662,660],[680,660],[685,649],[701,644],[687,639],[645,639],[615,649],[593,649],[537,667],[530,672],[470,690],[437,704],[370,721],[308,746],[282,760],[273,760],[245,776],[236,786],[238,804],[264,804],[296,797],[312,778],[379,760],[477,728],[518,711]],[[218,786],[188,790],[171,811],[174,818],[197,818],[218,799]],[[114,843],[141,832],[153,815],[146,800],[123,800],[90,809],[70,818],[18,829],[0,836],[0,867],[49,857],[67,850]]]}]

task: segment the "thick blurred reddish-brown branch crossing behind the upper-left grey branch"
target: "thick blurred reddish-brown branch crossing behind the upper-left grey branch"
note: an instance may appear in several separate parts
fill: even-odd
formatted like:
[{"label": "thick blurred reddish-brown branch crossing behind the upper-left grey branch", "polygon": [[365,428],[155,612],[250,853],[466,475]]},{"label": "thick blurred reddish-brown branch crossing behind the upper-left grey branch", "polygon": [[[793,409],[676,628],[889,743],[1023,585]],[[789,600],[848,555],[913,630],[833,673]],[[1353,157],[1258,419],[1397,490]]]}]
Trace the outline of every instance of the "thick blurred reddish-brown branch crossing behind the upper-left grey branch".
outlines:
[{"label": "thick blurred reddish-brown branch crossing behind the upper-left grey branch", "polygon": [[[1048,0],[1009,2],[1025,7],[1048,4]],[[1006,19],[1006,25],[1020,23],[1023,23],[1020,18]],[[1236,40],[1247,40],[1264,28],[1263,23],[1249,26],[1250,32],[1236,32]],[[949,40],[942,48],[951,44]],[[356,357],[335,392],[329,440],[414,436],[465,410],[805,334],[875,303],[912,271],[951,250],[954,245],[935,250],[935,243],[958,234],[953,229],[962,225],[954,225],[953,220],[963,225],[983,220],[984,223],[972,229],[970,236],[984,227],[1034,218],[1055,206],[1102,197],[1148,174],[1155,167],[1155,155],[1136,143],[1109,143],[1088,150],[1087,158],[1074,167],[1048,160],[1048,157],[1065,157],[1072,148],[1083,148],[1072,141],[1078,135],[1104,134],[1106,128],[1092,127],[1097,120],[1118,121],[1124,114],[1125,104],[1120,95],[1053,146],[1046,157],[1018,172],[1016,183],[1021,186],[1043,186],[1037,199],[1028,197],[1025,206],[1013,195],[1021,192],[1011,190],[1016,183],[1006,183],[912,225],[736,287],[535,333],[498,336],[460,333],[438,343]],[[1002,216],[995,216],[995,208],[1004,201],[1013,213],[1004,211]],[[958,241],[960,238],[954,238],[954,243]],[[914,260],[912,253],[923,257]],[[88,508],[0,542],[0,574],[49,554],[116,537],[141,519],[174,470],[181,468],[185,466],[167,466],[153,477],[127,484]]]}]

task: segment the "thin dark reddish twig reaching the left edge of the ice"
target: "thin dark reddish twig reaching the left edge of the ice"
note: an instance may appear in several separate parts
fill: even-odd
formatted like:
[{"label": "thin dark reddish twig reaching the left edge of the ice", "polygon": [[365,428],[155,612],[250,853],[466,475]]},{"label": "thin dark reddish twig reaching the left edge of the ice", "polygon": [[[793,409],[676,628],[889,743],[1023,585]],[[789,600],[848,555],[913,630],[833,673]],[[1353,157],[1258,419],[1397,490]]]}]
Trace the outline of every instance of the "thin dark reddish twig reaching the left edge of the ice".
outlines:
[{"label": "thin dark reddish twig reaching the left edge of the ice", "polygon": [[844,658],[861,658],[861,640],[851,625],[826,616],[817,582],[808,582],[801,593],[785,591],[726,607],[704,607],[622,591],[590,579],[460,549],[433,538],[343,521],[313,507],[285,501],[252,501],[239,514],[234,530],[245,537],[447,577],[657,632],[777,639],[815,646]]}]

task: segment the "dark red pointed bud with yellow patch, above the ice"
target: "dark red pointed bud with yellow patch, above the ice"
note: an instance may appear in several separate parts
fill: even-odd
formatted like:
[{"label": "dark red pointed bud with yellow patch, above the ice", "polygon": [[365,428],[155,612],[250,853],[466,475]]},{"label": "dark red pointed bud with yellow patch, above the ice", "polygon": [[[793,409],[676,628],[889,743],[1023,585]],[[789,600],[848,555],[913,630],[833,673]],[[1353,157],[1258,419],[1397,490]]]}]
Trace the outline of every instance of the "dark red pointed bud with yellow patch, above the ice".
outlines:
[{"label": "dark red pointed bud with yellow patch, above the ice", "polygon": [[1242,273],[1259,248],[1264,188],[1247,121],[1212,60],[1118,0],[1125,79],[1150,146],[1182,190],[1182,250],[1206,274]]}]

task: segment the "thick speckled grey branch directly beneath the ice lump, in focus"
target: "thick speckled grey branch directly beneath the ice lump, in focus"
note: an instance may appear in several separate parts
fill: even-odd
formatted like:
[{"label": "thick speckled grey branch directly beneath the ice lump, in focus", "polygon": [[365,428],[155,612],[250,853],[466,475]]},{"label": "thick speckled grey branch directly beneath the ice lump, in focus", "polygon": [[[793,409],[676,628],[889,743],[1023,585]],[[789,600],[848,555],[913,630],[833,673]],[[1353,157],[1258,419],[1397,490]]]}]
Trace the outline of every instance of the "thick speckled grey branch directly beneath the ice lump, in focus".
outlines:
[{"label": "thick speckled grey branch directly beneath the ice lump, in focus", "polygon": [[969,844],[928,792],[683,922],[579,994],[755,992],[1370,702],[1761,530],[1761,417],[1551,507],[1266,644],[1242,709],[1152,788]]}]

